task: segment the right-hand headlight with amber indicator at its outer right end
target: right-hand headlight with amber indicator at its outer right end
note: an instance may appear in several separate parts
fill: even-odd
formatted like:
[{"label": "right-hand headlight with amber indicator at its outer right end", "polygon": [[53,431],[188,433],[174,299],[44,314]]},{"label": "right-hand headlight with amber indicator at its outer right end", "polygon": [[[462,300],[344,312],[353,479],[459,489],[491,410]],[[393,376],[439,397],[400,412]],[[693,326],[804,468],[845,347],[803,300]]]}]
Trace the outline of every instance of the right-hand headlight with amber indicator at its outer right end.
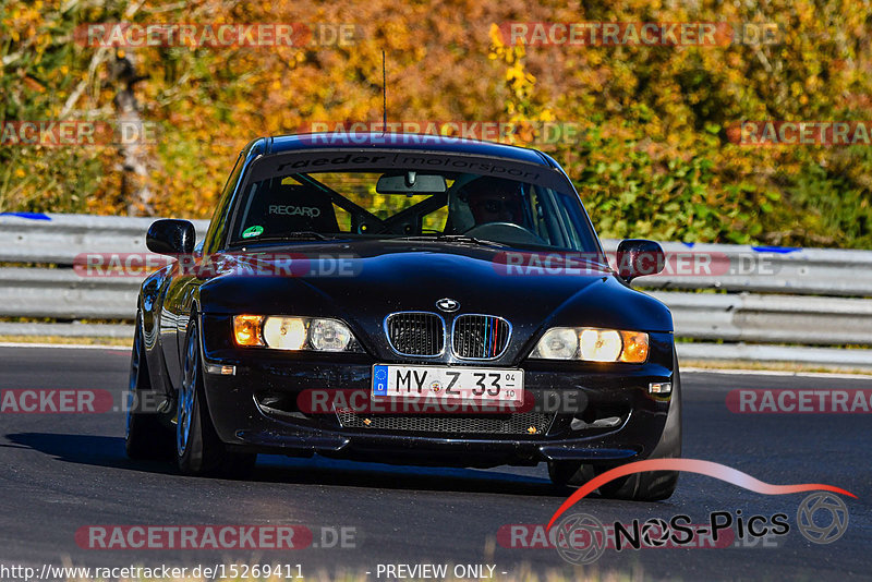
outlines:
[{"label": "right-hand headlight with amber indicator at its outer right end", "polygon": [[647,360],[647,334],[592,327],[553,327],[542,336],[530,357],[627,362]]}]

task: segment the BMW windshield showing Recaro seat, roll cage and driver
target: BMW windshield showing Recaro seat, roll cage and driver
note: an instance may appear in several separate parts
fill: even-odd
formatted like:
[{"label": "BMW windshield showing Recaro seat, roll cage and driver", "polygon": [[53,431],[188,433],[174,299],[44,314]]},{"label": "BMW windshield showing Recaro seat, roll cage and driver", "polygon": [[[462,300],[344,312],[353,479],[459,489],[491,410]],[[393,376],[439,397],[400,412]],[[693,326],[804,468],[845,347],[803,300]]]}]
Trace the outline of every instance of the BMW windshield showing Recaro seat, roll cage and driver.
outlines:
[{"label": "BMW windshield showing Recaro seat, roll cage and driver", "polygon": [[574,192],[473,172],[397,168],[278,172],[250,181],[229,242],[409,237],[598,250]]}]

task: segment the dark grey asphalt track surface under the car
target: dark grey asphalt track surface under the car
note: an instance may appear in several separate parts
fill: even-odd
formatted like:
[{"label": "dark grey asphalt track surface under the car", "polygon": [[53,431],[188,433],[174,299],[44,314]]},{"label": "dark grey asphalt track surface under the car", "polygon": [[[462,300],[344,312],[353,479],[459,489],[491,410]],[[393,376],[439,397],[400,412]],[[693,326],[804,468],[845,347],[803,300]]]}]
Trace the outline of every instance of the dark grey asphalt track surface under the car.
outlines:
[{"label": "dark grey asphalt track surface under the car", "polygon": [[[0,348],[0,390],[100,388],[116,404],[129,353],[118,349]],[[736,388],[872,388],[869,378],[685,373],[685,457],[706,459],[774,484],[826,483],[852,492],[845,535],[816,545],[796,531],[807,494],[770,496],[703,475],[682,474],[656,504],[591,496],[574,509],[605,523],[669,519],[705,523],[712,511],[784,512],[791,526],[776,547],[607,549],[593,566],[565,562],[553,548],[505,548],[504,524],[546,523],[567,496],[544,465],[488,471],[261,456],[251,481],[180,476],[159,462],[124,456],[122,412],[0,414],[0,563],[90,567],[161,563],[291,563],[303,575],[386,563],[491,563],[501,572],[559,569],[569,579],[619,571],[644,579],[872,580],[872,469],[869,414],[735,414]],[[85,549],[75,532],[93,524],[298,524],[354,528],[354,548],[276,550]]]}]

